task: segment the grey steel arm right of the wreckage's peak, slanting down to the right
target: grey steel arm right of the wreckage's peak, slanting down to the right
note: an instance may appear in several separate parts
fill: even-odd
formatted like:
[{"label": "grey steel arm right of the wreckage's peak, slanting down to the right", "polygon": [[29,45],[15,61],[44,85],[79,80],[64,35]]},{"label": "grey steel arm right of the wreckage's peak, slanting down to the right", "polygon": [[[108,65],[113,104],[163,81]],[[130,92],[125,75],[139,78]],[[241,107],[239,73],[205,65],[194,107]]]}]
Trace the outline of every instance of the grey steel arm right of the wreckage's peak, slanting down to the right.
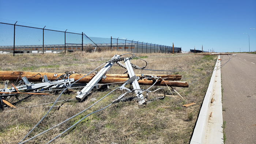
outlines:
[{"label": "grey steel arm right of the wreckage's peak, slanting down to the right", "polygon": [[[132,65],[131,65],[130,59],[129,58],[125,58],[124,63],[126,65],[129,77],[131,78],[132,76],[135,76],[135,73],[134,73],[134,71],[132,69]],[[132,82],[132,86],[133,86],[134,89],[140,89],[140,85],[139,85],[137,79],[135,79]],[[142,94],[142,91],[141,90],[135,90],[135,94],[136,94],[136,96],[139,99],[139,105],[146,105],[146,102],[144,100],[144,96]]]}]

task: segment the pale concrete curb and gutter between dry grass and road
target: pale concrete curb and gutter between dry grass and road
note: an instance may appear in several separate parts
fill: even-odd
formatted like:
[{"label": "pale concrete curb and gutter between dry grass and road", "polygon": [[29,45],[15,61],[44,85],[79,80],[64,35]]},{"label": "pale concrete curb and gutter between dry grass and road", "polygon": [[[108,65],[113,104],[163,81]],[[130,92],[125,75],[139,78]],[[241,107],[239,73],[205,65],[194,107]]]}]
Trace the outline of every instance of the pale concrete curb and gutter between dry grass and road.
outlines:
[{"label": "pale concrete curb and gutter between dry grass and road", "polygon": [[223,144],[220,67],[221,60],[219,55],[190,144]]}]

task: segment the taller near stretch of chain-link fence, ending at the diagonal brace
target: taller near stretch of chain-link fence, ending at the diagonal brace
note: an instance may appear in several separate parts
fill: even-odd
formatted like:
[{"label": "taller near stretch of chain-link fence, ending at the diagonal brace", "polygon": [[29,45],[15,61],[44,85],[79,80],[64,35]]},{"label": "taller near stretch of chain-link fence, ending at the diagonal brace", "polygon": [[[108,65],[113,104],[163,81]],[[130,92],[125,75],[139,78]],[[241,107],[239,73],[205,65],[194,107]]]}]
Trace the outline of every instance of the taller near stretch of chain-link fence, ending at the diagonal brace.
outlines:
[{"label": "taller near stretch of chain-link fence, ending at the diagonal brace", "polygon": [[[86,43],[84,43],[86,42]],[[0,54],[66,53],[94,49],[83,33],[71,33],[0,22]]]}]

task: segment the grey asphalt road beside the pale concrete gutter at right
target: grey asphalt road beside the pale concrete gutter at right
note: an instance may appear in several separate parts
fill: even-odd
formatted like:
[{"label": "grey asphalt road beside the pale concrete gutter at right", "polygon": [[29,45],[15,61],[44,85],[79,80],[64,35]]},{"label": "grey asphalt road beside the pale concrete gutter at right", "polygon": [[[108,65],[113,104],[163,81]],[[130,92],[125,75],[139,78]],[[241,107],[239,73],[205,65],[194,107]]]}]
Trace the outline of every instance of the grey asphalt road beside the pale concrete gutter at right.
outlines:
[{"label": "grey asphalt road beside the pale concrete gutter at right", "polygon": [[226,144],[256,144],[256,54],[236,54],[221,61]]}]

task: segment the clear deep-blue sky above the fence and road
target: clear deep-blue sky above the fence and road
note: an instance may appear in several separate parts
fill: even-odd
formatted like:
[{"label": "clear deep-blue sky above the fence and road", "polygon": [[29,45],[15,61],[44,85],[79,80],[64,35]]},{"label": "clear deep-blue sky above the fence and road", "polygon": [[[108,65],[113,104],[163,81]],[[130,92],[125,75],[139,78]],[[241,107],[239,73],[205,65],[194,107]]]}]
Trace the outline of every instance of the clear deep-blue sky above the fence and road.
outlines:
[{"label": "clear deep-blue sky above the fence and road", "polygon": [[256,50],[256,0],[0,0],[3,19],[185,51],[248,52],[250,37]]}]

